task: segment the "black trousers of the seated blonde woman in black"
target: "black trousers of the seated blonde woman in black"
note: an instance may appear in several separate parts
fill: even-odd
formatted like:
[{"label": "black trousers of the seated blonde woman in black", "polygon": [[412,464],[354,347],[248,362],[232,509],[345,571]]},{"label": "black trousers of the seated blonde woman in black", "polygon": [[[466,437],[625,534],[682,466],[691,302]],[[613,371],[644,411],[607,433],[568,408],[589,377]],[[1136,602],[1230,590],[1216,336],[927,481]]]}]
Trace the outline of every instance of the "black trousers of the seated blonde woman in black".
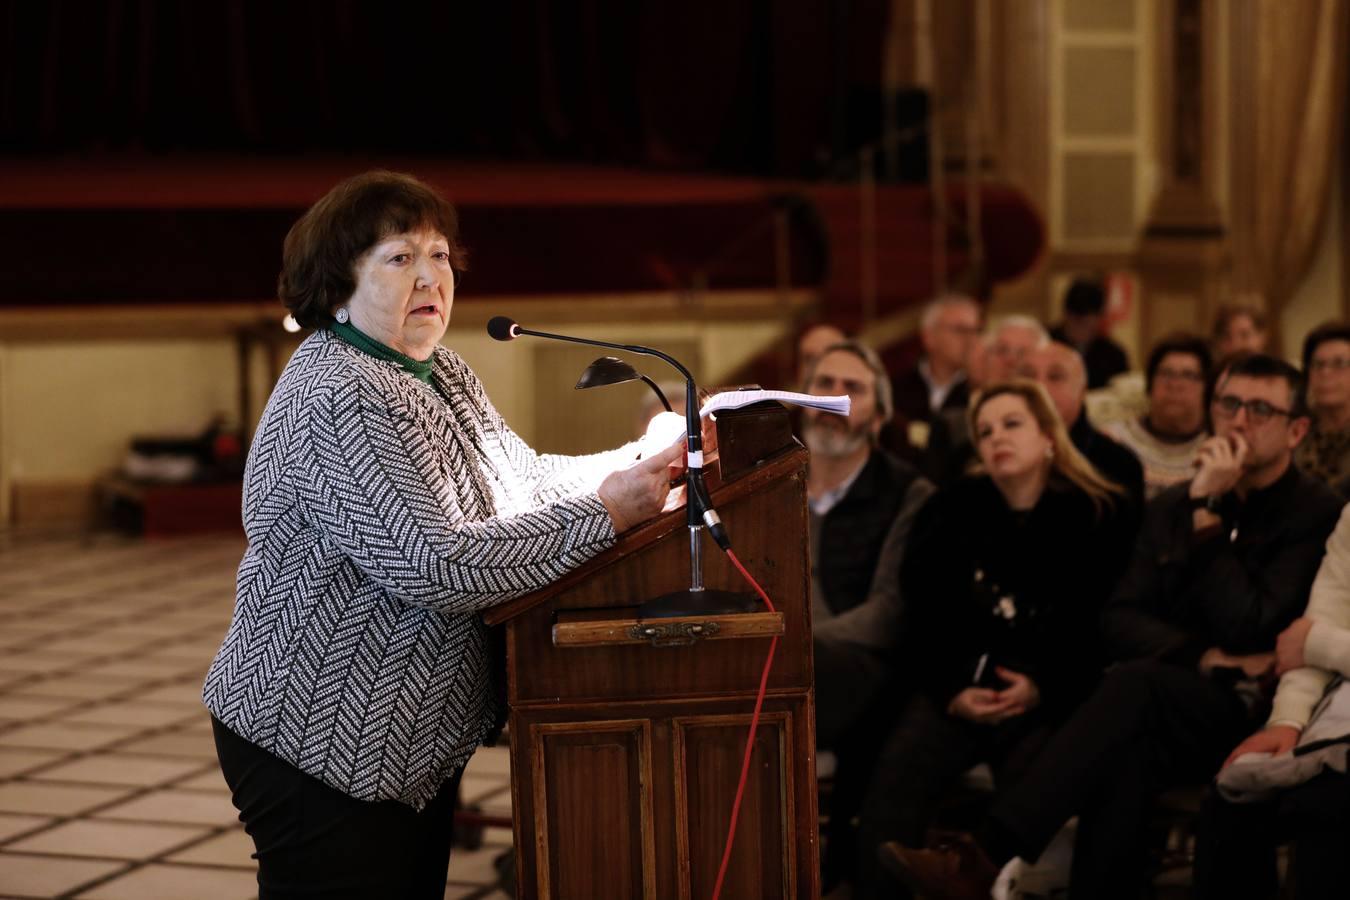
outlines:
[{"label": "black trousers of the seated blonde woman in black", "polygon": [[1050,725],[1035,711],[1000,725],[975,725],[915,694],[887,735],[867,788],[855,896],[905,896],[878,862],[880,845],[900,841],[922,846],[934,814],[967,769],[988,762],[1000,785],[1015,783],[1049,734]]}]

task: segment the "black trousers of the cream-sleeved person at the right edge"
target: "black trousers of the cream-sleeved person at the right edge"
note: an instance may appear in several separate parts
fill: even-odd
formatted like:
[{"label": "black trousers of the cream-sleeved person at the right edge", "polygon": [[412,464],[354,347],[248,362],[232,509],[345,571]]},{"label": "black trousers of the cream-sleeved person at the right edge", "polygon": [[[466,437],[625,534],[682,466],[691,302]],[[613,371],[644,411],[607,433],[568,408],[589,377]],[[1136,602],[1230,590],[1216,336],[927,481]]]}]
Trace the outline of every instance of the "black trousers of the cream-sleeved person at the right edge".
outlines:
[{"label": "black trousers of the cream-sleeved person at the right edge", "polygon": [[1350,777],[1322,775],[1266,803],[1228,803],[1211,789],[1195,847],[1195,896],[1270,899],[1278,895],[1276,849],[1293,843],[1297,900],[1350,895]]}]

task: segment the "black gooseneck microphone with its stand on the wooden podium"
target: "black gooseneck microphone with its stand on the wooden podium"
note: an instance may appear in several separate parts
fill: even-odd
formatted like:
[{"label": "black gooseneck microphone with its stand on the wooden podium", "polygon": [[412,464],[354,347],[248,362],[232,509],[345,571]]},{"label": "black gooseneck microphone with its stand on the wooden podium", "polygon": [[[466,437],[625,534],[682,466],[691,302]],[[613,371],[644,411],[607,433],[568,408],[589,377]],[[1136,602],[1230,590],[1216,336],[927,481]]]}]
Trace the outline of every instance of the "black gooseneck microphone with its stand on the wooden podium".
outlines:
[{"label": "black gooseneck microphone with its stand on the wooden podium", "polygon": [[[713,509],[713,501],[703,483],[703,426],[698,414],[698,385],[694,375],[684,366],[653,347],[637,344],[616,344],[608,340],[591,337],[575,337],[572,335],[554,335],[549,332],[521,328],[520,322],[508,316],[493,316],[487,321],[487,333],[494,340],[516,340],[521,335],[543,337],[545,340],[563,340],[571,344],[589,344],[591,347],[608,347],[609,349],[622,349],[641,356],[655,356],[672,366],[684,376],[684,440],[686,440],[686,482],[684,507],[688,513],[690,532],[690,590],[687,592],[667,594],[663,598],[644,603],[639,609],[639,615],[645,618],[662,618],[671,615],[706,615],[709,613],[741,613],[753,609],[753,598],[745,602],[745,595],[729,594],[726,591],[703,590],[702,541],[701,529],[707,528],[717,545],[724,551],[732,549],[730,537],[721,517]],[[734,602],[728,598],[734,598]],[[718,609],[714,609],[718,607]]]}]

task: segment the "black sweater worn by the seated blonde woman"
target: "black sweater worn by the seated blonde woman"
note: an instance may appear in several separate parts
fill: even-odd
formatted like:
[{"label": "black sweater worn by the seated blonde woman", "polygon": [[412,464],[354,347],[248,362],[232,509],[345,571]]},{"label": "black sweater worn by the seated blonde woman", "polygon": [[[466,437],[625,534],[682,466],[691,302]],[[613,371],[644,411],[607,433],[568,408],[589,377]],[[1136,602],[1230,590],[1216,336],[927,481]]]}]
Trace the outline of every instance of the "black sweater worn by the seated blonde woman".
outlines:
[{"label": "black sweater worn by the seated blonde woman", "polygon": [[[1077,487],[1052,478],[1017,513],[987,476],[961,479],[919,513],[902,569],[919,683],[945,707],[976,667],[1031,677],[1052,715],[1071,710],[1100,673],[1098,622],[1129,559],[1115,507],[1099,515]],[[1002,685],[994,680],[990,684]]]}]

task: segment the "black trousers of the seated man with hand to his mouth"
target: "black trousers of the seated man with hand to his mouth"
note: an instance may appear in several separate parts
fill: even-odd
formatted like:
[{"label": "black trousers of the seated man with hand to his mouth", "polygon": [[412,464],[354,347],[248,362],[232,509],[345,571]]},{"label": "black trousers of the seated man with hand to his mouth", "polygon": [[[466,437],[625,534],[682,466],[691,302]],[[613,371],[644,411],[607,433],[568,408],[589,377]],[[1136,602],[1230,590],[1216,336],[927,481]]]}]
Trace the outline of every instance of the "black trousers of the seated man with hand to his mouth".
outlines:
[{"label": "black trousers of the seated man with hand to his mouth", "polygon": [[1102,684],[1000,791],[977,838],[995,861],[1035,860],[1077,815],[1069,896],[1137,897],[1157,795],[1203,784],[1254,726],[1238,696],[1197,671],[1137,660]]}]

